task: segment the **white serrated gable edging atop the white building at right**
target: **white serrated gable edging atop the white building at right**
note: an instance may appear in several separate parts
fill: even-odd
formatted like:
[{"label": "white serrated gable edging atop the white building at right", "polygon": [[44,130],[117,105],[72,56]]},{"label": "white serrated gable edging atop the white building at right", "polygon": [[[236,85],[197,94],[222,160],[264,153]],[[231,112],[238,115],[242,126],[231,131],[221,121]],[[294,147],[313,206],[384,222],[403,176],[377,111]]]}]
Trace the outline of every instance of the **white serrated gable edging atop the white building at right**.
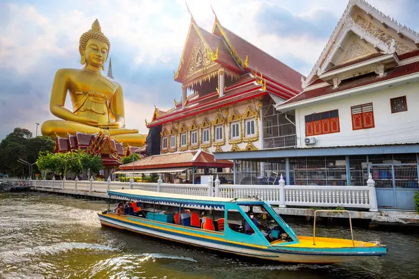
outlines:
[{"label": "white serrated gable edging atop the white building at right", "polygon": [[[339,35],[338,32],[341,31],[342,28],[344,28],[344,22],[347,20],[347,18],[351,17],[351,10],[353,6],[358,6],[360,9],[364,10],[365,13],[367,13],[367,15],[369,15],[370,17],[376,17],[376,19],[380,20],[381,23],[384,23],[388,27],[391,27],[392,29],[395,29],[397,32],[400,32],[404,36],[410,38],[416,43],[416,46],[419,47],[419,33],[417,31],[414,31],[413,29],[400,24],[399,22],[397,22],[397,20],[395,20],[392,17],[389,17],[388,15],[385,15],[365,0],[349,0],[348,5],[344,10],[344,13],[341,15],[339,22],[337,23],[335,29],[332,31],[332,35],[330,36],[328,42],[323,48],[320,56],[318,56],[316,63],[314,64],[309,75],[307,76],[307,79],[305,79],[304,82],[302,82],[303,88],[307,87],[313,81],[314,75],[317,75],[318,69],[321,68],[321,66],[323,66],[323,63],[326,59],[326,54],[328,54],[331,48],[335,45],[336,36]],[[348,22],[346,22],[346,24],[348,24]]]}]

